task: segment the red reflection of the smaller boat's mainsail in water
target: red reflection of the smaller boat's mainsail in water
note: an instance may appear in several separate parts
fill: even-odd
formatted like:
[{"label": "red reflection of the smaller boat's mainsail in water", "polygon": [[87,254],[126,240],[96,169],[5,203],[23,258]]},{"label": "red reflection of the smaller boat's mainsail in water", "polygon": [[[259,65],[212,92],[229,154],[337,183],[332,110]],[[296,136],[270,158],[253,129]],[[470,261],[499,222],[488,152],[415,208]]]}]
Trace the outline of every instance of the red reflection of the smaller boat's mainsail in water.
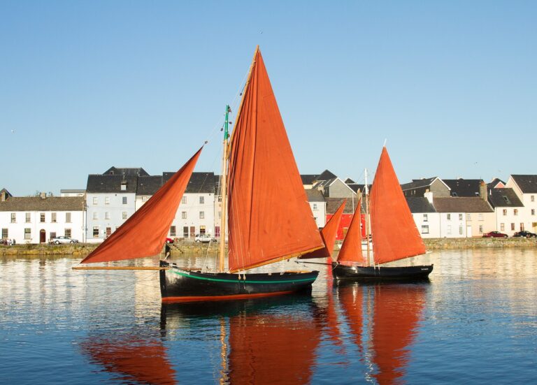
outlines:
[{"label": "red reflection of the smaller boat's mainsail in water", "polygon": [[373,377],[378,384],[401,384],[424,296],[424,286],[420,285],[375,286],[371,361],[376,366]]}]

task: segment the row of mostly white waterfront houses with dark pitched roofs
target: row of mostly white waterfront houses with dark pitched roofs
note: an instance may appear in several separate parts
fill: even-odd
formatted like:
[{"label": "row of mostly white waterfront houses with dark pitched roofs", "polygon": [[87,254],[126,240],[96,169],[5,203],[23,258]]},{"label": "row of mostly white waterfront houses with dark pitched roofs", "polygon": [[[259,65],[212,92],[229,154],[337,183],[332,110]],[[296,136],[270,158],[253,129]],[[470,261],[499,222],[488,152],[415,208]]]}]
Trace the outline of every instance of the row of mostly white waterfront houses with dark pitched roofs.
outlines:
[{"label": "row of mostly white waterfront houses with dark pitched roofs", "polygon": [[[102,174],[88,175],[86,189],[64,189],[60,196],[16,197],[3,189],[1,238],[42,243],[66,235],[81,242],[102,242],[172,175],[149,175],[143,168],[111,167]],[[338,238],[343,238],[364,184],[342,180],[329,170],[301,177],[320,228],[347,198],[338,231]],[[489,184],[431,177],[402,184],[401,188],[423,238],[479,237],[494,230],[508,235],[520,230],[537,231],[537,175],[510,175],[506,183],[493,180]],[[207,233],[218,238],[221,215],[219,175],[193,173],[169,237],[194,238]]]}]

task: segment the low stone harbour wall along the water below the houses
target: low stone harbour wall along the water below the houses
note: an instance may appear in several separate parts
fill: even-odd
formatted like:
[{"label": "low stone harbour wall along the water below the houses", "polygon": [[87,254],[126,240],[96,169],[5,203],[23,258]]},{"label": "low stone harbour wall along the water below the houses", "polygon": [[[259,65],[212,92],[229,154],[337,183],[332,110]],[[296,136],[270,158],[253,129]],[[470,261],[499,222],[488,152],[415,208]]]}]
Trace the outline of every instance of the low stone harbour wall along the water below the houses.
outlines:
[{"label": "low stone harbour wall along the water below the houses", "polygon": [[[537,248],[537,238],[429,238],[424,239],[427,250],[479,249],[486,247]],[[14,245],[0,246],[0,255],[73,255],[90,254],[97,245],[77,243],[74,245]],[[216,252],[215,243],[203,244],[189,241],[172,245],[172,256],[182,253],[207,252],[208,247]]]}]

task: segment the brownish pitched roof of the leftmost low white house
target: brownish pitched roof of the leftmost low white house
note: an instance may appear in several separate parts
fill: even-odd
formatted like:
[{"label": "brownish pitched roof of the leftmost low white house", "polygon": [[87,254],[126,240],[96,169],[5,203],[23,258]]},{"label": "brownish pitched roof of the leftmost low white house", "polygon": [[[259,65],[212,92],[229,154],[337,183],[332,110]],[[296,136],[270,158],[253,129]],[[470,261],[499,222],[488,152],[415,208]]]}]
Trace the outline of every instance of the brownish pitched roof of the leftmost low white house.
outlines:
[{"label": "brownish pitched roof of the leftmost low white house", "polygon": [[83,211],[83,196],[13,196],[0,202],[0,211]]}]

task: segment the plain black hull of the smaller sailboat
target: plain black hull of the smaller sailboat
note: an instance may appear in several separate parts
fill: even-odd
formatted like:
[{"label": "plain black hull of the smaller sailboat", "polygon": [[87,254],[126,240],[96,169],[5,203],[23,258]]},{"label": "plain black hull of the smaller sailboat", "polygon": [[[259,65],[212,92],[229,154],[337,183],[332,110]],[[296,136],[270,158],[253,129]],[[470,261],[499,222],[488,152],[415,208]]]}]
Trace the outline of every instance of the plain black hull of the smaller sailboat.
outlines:
[{"label": "plain black hull of the smaller sailboat", "polygon": [[354,279],[355,281],[403,281],[429,279],[433,265],[427,266],[401,266],[401,267],[373,267],[373,266],[345,266],[333,263],[332,273],[337,279]]}]

